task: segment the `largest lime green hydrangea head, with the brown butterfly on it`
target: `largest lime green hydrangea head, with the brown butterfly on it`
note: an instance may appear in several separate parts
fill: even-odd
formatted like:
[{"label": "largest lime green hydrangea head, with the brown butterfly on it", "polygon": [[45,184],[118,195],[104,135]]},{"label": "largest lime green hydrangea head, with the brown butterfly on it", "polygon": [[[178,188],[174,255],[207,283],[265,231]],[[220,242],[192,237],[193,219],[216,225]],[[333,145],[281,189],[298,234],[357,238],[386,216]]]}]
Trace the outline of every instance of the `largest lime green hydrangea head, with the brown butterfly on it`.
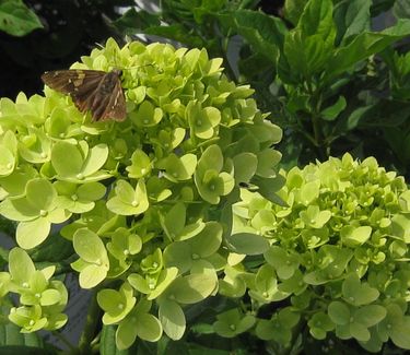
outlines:
[{"label": "largest lime green hydrangea head, with the brown butterfly on it", "polygon": [[49,88],[0,100],[0,214],[24,249],[65,223],[80,285],[106,286],[97,301],[119,348],[183,336],[184,305],[215,294],[226,264],[221,206],[239,184],[278,180],[281,130],[221,63],[204,49],[109,39],[72,68],[122,70],[125,121],[92,122]]}]

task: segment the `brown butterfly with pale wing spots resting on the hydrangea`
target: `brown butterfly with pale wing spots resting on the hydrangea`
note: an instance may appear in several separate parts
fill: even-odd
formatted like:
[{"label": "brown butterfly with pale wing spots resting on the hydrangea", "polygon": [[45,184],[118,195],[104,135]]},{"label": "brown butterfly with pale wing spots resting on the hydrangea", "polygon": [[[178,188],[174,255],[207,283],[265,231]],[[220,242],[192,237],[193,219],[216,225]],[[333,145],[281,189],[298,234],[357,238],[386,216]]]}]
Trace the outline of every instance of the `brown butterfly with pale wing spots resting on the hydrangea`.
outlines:
[{"label": "brown butterfly with pale wing spots resting on the hydrangea", "polygon": [[81,113],[91,111],[93,121],[124,121],[127,117],[126,97],[121,87],[122,71],[56,70],[42,75],[43,82],[71,96]]}]

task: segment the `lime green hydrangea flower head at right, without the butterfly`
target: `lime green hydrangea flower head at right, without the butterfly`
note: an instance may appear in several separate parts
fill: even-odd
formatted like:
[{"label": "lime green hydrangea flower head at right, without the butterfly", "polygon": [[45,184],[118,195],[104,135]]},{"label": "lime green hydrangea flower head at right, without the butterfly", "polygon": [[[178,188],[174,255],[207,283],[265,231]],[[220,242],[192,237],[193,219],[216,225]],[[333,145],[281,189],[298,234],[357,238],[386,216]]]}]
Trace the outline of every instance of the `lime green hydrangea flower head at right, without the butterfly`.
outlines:
[{"label": "lime green hydrangea flower head at right, without the butterfly", "polygon": [[[372,352],[389,339],[410,348],[410,190],[403,178],[373,157],[359,163],[349,154],[282,174],[282,205],[247,190],[234,205],[230,240],[243,256],[231,258],[220,292],[239,297],[248,289],[256,308],[281,301],[271,319],[254,321],[257,336],[281,346],[306,322],[318,340],[331,332]],[[258,250],[246,252],[251,244]],[[263,256],[256,271],[245,253]]]}]

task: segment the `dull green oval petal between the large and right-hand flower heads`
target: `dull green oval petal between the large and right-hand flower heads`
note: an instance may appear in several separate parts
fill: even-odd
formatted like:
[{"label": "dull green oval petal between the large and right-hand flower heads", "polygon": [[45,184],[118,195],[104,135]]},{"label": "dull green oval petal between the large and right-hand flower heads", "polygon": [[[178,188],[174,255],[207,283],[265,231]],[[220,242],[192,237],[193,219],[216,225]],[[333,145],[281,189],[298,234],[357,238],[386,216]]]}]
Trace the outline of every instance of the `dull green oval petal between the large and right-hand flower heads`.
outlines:
[{"label": "dull green oval petal between the large and right-hand flower heads", "polygon": [[269,241],[257,234],[236,233],[226,237],[226,241],[232,251],[247,256],[261,255],[269,249]]}]

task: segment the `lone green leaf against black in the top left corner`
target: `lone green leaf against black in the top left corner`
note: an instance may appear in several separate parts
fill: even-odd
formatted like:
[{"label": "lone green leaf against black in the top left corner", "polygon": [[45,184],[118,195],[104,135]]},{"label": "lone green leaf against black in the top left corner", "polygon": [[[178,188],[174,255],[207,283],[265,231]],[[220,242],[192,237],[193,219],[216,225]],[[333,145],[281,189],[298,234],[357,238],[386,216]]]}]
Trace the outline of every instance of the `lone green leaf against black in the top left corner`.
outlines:
[{"label": "lone green leaf against black in the top left corner", "polygon": [[42,22],[21,0],[3,0],[0,3],[0,29],[12,36],[22,37],[36,28]]}]

